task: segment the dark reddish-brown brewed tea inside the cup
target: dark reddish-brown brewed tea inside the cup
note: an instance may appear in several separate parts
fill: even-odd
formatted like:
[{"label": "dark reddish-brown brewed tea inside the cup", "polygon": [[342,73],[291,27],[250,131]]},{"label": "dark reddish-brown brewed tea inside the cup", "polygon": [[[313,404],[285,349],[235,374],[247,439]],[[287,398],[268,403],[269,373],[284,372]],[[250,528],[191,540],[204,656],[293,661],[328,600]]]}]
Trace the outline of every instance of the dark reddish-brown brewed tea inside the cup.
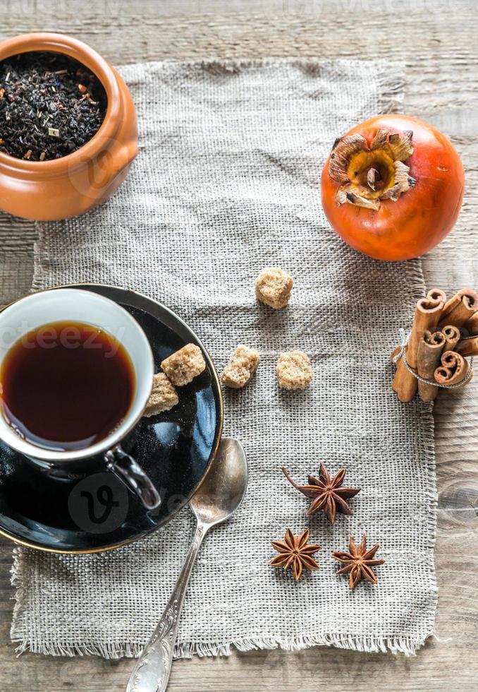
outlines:
[{"label": "dark reddish-brown brewed tea inside the cup", "polygon": [[41,326],[16,342],[0,369],[8,423],[30,443],[55,451],[92,446],[128,413],[135,375],[116,338],[79,322]]}]

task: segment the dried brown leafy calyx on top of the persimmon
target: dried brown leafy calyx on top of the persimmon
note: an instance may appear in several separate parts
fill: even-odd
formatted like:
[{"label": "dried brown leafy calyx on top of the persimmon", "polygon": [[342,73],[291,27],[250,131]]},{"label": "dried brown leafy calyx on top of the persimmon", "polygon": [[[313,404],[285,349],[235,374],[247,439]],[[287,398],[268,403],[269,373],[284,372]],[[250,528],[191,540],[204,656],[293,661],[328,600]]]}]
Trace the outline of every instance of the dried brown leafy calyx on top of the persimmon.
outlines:
[{"label": "dried brown leafy calyx on top of the persimmon", "polygon": [[335,141],[329,162],[331,179],[340,184],[336,205],[354,204],[378,210],[382,200],[396,202],[417,182],[404,161],[413,153],[413,132],[376,131],[370,146],[360,134]]}]

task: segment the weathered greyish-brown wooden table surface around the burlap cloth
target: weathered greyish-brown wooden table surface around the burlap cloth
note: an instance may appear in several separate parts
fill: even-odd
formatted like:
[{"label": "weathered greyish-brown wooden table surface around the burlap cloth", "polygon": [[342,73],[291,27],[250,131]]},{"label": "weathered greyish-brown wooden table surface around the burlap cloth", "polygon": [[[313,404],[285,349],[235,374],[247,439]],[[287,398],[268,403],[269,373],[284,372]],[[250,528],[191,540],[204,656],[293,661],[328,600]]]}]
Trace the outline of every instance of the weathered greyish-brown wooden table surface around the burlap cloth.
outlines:
[{"label": "weathered greyish-brown wooden table surface around the burlap cloth", "polygon": [[[467,168],[455,231],[424,257],[429,286],[478,287],[478,4],[475,0],[1,0],[1,38],[58,30],[115,64],[203,56],[385,59],[405,66],[402,110],[451,137]],[[477,189],[474,189],[474,185]],[[0,215],[0,301],[27,292],[35,229]],[[176,662],[171,690],[330,692],[478,688],[478,378],[435,407],[440,642],[415,658],[315,648]],[[123,691],[131,662],[15,657],[11,545],[0,542],[0,679],[15,692]]]}]

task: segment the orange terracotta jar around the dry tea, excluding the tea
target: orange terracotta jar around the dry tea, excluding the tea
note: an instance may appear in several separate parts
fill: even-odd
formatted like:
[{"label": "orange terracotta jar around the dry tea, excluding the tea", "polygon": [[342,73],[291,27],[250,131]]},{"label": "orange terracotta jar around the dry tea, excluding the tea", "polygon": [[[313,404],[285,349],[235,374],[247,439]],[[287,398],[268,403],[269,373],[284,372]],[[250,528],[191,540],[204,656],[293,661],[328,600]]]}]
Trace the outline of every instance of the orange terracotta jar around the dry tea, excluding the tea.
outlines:
[{"label": "orange terracotta jar around the dry tea, excluding the tea", "polygon": [[0,152],[0,209],[35,221],[55,221],[85,213],[121,185],[137,154],[136,112],[116,70],[85,43],[62,34],[25,34],[0,43],[0,60],[32,51],[78,60],[97,76],[107,97],[102,126],[77,151],[49,161]]}]

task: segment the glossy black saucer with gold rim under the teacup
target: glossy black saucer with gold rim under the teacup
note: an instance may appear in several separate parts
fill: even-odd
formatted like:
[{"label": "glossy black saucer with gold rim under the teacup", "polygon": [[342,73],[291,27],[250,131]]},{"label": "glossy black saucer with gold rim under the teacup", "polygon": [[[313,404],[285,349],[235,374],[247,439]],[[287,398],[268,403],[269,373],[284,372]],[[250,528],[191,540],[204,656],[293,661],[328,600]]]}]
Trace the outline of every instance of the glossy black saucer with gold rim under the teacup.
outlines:
[{"label": "glossy black saucer with gold rim under the teacup", "polygon": [[185,343],[202,347],[207,368],[180,389],[180,402],[142,419],[130,453],[161,494],[147,513],[142,503],[105,470],[58,477],[0,442],[0,533],[18,543],[55,552],[90,553],[120,547],[154,531],[185,506],[200,486],[219,446],[222,397],[214,365],[194,332],[163,305],[113,286],[71,286],[110,298],[142,326],[159,363]]}]

